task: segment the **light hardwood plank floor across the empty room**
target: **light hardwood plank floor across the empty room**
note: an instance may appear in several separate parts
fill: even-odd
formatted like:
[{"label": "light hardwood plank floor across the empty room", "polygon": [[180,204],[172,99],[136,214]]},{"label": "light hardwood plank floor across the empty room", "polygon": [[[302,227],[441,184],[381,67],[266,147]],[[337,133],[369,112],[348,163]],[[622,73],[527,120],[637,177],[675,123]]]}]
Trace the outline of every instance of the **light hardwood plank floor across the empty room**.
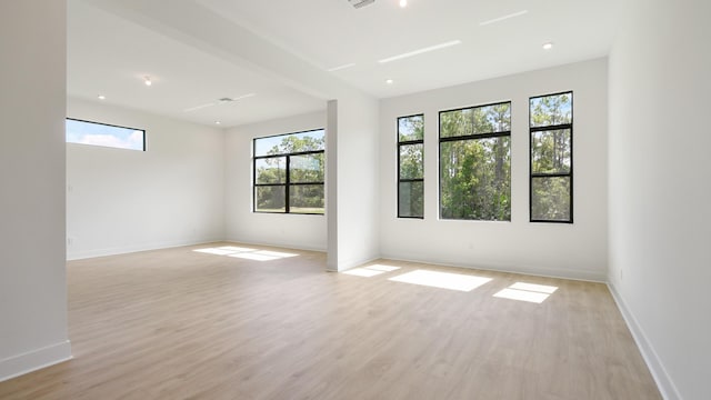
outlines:
[{"label": "light hardwood plank floor across the empty room", "polygon": [[[194,251],[222,246],[297,256]],[[1,382],[0,399],[661,398],[604,284],[324,263],[234,243],[69,262],[74,359]],[[491,280],[390,280],[417,270]],[[541,303],[494,297],[517,282],[558,289]]]}]

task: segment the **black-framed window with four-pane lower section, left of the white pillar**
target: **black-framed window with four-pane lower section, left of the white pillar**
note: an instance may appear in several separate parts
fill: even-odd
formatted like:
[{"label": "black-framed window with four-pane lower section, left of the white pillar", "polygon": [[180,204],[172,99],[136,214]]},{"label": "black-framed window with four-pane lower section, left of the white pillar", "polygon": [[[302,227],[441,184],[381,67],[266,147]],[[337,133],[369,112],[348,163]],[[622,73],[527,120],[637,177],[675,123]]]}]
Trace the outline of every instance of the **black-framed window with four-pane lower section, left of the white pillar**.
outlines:
[{"label": "black-framed window with four-pane lower section, left of the white pillar", "polygon": [[254,212],[323,214],[326,131],[253,141]]}]

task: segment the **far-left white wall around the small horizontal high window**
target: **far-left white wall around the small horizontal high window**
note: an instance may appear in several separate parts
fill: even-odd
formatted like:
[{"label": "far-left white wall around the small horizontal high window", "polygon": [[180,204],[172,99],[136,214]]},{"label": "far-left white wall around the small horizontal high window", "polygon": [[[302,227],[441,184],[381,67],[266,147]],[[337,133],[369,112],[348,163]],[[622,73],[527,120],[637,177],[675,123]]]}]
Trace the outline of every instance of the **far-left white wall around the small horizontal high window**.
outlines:
[{"label": "far-left white wall around the small horizontal high window", "polygon": [[67,116],[146,129],[147,151],[67,144],[68,258],[224,238],[224,133],[69,99]]}]

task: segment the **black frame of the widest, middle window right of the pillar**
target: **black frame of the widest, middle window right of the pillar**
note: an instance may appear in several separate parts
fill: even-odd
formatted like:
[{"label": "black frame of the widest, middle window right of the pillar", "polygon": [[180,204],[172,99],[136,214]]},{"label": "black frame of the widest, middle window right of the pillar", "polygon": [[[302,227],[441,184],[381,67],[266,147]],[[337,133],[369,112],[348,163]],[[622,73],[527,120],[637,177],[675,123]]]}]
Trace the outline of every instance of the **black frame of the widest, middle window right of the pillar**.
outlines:
[{"label": "black frame of the widest, middle window right of the pillar", "polygon": [[[465,136],[455,136],[455,137],[448,137],[448,138],[442,138],[442,113],[444,112],[452,112],[452,111],[462,111],[462,110],[469,110],[469,109],[477,109],[477,108],[484,108],[484,107],[491,107],[491,106],[499,106],[499,104],[509,104],[509,113],[511,114],[512,110],[513,110],[513,101],[512,100],[504,100],[504,101],[495,101],[495,102],[490,102],[490,103],[483,103],[483,104],[477,104],[477,106],[468,106],[468,107],[460,107],[460,108],[453,108],[453,109],[447,109],[447,110],[441,110],[438,113],[438,136],[439,136],[439,142],[438,142],[438,216],[439,219],[442,221],[474,221],[474,222],[511,222],[512,220],[512,214],[511,212],[509,212],[509,219],[508,220],[482,220],[482,219],[463,219],[463,218],[443,218],[442,217],[442,143],[447,143],[447,142],[454,142],[454,141],[465,141],[465,140],[479,140],[479,139],[492,139],[492,138],[509,138],[509,157],[512,159],[512,152],[511,152],[511,144],[513,142],[512,137],[511,137],[511,132],[513,131],[513,117],[510,116],[511,120],[510,120],[510,126],[509,126],[509,130],[508,131],[501,131],[501,132],[487,132],[487,133],[474,133],[474,134],[465,134]],[[511,188],[511,180],[512,180],[512,176],[511,176],[511,166],[509,166],[509,199],[511,199],[510,203],[509,203],[509,211],[511,211],[512,209],[512,198],[513,198],[513,193],[512,193],[512,188]]]}]

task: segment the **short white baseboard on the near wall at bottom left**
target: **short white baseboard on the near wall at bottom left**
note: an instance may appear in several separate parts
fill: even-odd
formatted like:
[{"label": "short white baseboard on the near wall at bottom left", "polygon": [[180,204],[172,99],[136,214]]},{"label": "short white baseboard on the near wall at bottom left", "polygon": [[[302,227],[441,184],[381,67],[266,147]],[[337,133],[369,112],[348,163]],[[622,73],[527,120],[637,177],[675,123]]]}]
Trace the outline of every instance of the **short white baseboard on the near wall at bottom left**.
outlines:
[{"label": "short white baseboard on the near wall at bottom left", "polygon": [[0,382],[71,360],[71,343],[63,342],[0,360]]}]

